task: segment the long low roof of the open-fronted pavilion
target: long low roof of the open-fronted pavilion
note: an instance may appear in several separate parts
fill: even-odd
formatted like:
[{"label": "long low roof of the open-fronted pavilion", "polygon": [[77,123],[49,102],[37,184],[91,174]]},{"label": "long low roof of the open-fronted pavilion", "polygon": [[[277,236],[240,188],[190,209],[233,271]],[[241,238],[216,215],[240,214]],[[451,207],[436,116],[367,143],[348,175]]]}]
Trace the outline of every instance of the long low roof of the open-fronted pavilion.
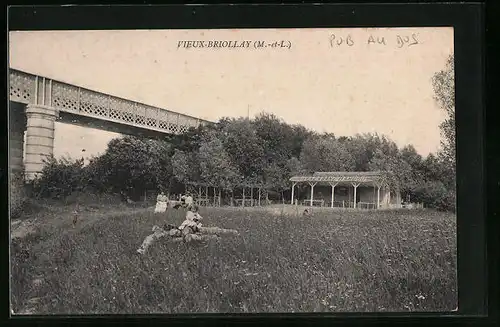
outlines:
[{"label": "long low roof of the open-fronted pavilion", "polygon": [[312,176],[293,176],[291,182],[327,182],[327,183],[375,183],[385,184],[385,172],[382,171],[335,171],[315,172]]}]

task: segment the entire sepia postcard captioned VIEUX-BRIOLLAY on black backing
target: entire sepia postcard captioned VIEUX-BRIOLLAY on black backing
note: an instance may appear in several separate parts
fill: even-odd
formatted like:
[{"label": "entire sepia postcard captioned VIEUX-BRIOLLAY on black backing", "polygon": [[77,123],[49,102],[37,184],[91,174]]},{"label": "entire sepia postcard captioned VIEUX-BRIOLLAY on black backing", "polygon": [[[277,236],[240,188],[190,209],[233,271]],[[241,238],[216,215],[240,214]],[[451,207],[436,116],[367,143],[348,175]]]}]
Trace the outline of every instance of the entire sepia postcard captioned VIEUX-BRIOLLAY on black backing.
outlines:
[{"label": "entire sepia postcard captioned VIEUX-BRIOLLAY on black backing", "polygon": [[12,315],[458,310],[452,27],[8,34]]}]

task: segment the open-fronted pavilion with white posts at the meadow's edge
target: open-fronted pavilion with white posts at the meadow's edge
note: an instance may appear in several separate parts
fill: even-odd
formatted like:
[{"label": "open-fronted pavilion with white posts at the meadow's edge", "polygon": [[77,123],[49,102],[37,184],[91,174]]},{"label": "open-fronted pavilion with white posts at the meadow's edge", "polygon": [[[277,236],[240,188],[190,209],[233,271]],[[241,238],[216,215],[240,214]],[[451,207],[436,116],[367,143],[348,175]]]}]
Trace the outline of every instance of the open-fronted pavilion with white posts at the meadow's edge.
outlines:
[{"label": "open-fronted pavilion with white posts at the meadow's edge", "polygon": [[[387,172],[315,172],[312,176],[293,176],[290,178],[292,182],[291,203],[297,203],[295,199],[295,186],[298,183],[307,183],[311,187],[310,198],[304,200],[304,204],[314,206],[319,203],[324,206],[325,202],[329,202],[330,207],[352,207],[352,208],[373,208],[380,209],[386,207],[398,207],[401,203],[401,195],[397,187],[390,189]],[[330,199],[314,199],[315,186],[330,186]],[[343,199],[340,205],[339,201],[335,201],[336,188],[347,190],[346,194],[341,194]],[[363,188],[364,192],[358,193],[358,188]],[[352,194],[351,194],[352,191]],[[373,191],[373,192],[372,192]],[[394,195],[391,198],[391,193]],[[351,197],[352,195],[352,197]],[[347,196],[347,197],[345,197]],[[364,198],[364,199],[363,199]],[[364,201],[361,201],[364,200]]]}]

